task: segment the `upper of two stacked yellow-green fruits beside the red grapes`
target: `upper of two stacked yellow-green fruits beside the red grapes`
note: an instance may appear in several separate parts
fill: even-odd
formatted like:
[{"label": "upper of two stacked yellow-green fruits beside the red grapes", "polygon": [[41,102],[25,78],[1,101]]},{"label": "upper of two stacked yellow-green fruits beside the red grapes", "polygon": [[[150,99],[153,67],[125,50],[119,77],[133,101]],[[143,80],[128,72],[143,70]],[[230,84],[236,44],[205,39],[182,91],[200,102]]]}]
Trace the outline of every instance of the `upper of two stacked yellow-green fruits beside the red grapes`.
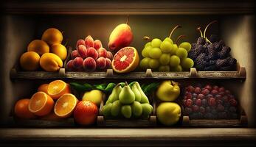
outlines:
[{"label": "upper of two stacked yellow-green fruits beside the red grapes", "polygon": [[179,84],[170,80],[162,82],[156,90],[156,96],[161,101],[175,101],[179,93]]}]

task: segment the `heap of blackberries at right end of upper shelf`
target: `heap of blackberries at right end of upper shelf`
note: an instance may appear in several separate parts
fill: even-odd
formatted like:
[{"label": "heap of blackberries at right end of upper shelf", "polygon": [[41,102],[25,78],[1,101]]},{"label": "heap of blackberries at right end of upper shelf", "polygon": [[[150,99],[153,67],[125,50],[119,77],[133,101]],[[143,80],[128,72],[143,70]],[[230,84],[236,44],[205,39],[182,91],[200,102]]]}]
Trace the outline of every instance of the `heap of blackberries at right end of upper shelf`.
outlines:
[{"label": "heap of blackberries at right end of upper shelf", "polygon": [[210,36],[210,42],[198,37],[188,52],[198,71],[235,71],[237,60],[230,55],[231,49],[217,35]]}]

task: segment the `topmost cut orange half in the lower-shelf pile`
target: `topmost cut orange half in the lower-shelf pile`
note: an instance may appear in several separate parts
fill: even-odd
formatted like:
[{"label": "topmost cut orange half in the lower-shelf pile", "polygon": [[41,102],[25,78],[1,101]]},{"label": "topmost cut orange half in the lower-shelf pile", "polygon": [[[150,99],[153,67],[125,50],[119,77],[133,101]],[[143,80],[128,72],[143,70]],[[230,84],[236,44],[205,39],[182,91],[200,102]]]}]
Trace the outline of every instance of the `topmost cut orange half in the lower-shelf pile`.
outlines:
[{"label": "topmost cut orange half in the lower-shelf pile", "polygon": [[47,88],[47,93],[53,99],[58,99],[65,93],[71,93],[69,84],[63,82],[62,80],[55,80],[50,82]]}]

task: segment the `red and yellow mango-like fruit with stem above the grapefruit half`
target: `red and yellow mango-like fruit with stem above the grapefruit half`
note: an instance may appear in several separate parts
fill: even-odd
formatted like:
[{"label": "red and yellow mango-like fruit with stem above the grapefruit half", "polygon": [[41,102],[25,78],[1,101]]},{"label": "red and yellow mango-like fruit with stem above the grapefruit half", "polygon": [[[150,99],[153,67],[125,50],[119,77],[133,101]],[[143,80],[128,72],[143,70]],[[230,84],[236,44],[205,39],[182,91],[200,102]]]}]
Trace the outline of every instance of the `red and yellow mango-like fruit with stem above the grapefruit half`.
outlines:
[{"label": "red and yellow mango-like fruit with stem above the grapefruit half", "polygon": [[126,24],[120,24],[114,28],[109,36],[108,49],[117,52],[125,46],[129,46],[134,36],[131,32],[131,27],[128,25],[128,18]]}]

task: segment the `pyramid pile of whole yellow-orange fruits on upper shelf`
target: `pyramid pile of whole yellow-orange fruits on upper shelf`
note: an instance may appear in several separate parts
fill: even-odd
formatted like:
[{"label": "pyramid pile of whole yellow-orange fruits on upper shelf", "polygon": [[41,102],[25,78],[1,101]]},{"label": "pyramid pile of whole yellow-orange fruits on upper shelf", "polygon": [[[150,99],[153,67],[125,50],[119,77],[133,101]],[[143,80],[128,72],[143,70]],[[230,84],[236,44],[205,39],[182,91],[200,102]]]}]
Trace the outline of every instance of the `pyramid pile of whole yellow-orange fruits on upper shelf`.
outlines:
[{"label": "pyramid pile of whole yellow-orange fruits on upper shelf", "polygon": [[61,44],[62,33],[55,28],[46,29],[41,40],[32,40],[27,52],[21,55],[20,65],[24,71],[58,71],[66,59],[66,47]]}]

